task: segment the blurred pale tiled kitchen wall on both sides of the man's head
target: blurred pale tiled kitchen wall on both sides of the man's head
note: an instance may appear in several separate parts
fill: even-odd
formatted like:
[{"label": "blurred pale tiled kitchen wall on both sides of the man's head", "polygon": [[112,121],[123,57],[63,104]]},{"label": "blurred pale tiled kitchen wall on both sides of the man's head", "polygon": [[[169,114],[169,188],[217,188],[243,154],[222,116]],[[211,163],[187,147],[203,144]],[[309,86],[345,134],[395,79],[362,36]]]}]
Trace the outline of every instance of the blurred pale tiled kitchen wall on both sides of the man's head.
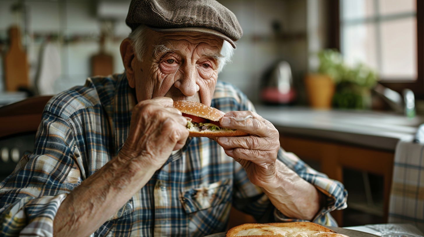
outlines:
[{"label": "blurred pale tiled kitchen wall on both sides of the man's head", "polygon": [[[0,1],[0,40],[7,40],[8,27],[17,22],[11,13],[16,0]],[[117,2],[129,2],[121,0]],[[220,0],[236,14],[243,28],[237,41],[233,62],[226,66],[219,80],[237,85],[254,101],[259,101],[259,87],[265,69],[276,60],[290,62],[296,86],[308,66],[307,0]],[[69,43],[53,40],[61,61],[61,75],[55,83],[55,93],[73,85],[83,84],[90,71],[90,56],[98,52],[100,20],[95,17],[95,1],[86,0],[26,0],[28,33],[39,36],[56,34],[73,39]],[[123,16],[125,17],[125,16]],[[273,22],[280,25],[275,33]],[[124,19],[117,19],[115,37],[107,41],[106,49],[114,55],[114,72],[123,71],[120,60],[120,41],[129,33]],[[31,80],[36,75],[39,51],[45,38],[27,36],[24,44],[31,63]],[[0,62],[3,65],[3,62]],[[0,76],[3,70],[0,67]],[[0,85],[0,91],[3,85]],[[1,93],[1,92],[0,92]]]}]

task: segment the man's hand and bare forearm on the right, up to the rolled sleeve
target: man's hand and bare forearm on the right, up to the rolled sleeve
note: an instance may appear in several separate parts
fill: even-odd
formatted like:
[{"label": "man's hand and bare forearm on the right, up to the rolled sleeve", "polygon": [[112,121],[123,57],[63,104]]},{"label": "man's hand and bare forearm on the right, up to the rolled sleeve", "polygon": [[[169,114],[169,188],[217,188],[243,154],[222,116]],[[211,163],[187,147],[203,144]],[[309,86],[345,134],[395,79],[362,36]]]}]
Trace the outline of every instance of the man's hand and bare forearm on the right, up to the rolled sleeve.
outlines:
[{"label": "man's hand and bare forearm on the right, up to the rolled sleeve", "polygon": [[240,163],[254,185],[289,218],[312,220],[320,209],[315,186],[277,160],[279,134],[271,122],[251,111],[232,111],[220,119],[222,127],[248,132],[244,137],[213,138]]}]

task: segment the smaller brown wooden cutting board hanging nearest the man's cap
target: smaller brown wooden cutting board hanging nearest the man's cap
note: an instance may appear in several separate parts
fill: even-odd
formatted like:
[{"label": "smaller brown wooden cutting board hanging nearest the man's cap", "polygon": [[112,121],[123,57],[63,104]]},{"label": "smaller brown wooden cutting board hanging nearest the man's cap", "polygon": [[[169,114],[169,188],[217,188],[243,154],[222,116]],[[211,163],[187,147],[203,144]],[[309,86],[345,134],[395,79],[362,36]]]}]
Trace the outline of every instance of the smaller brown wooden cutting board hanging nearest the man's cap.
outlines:
[{"label": "smaller brown wooden cutting board hanging nearest the man's cap", "polygon": [[100,37],[100,52],[91,58],[91,75],[107,76],[113,73],[113,57],[104,49],[105,36]]}]

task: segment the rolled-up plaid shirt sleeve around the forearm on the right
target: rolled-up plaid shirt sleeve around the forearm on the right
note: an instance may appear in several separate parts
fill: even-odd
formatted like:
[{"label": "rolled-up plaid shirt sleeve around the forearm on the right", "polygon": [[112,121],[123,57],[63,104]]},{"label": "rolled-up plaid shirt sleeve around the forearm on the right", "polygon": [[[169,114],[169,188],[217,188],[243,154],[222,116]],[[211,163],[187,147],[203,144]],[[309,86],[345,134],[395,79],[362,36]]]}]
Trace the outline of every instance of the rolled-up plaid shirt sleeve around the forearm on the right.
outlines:
[{"label": "rolled-up plaid shirt sleeve around the forearm on the right", "polygon": [[[295,154],[285,152],[281,147],[277,159],[295,171],[302,179],[314,185],[325,196],[322,208],[312,222],[324,226],[338,226],[330,212],[347,207],[347,191],[343,184],[329,179],[325,174],[312,169]],[[234,166],[236,171],[234,173],[233,205],[236,209],[253,215],[259,223],[310,221],[287,218],[272,205],[268,196],[259,187],[251,184],[241,166],[237,164]]]}]

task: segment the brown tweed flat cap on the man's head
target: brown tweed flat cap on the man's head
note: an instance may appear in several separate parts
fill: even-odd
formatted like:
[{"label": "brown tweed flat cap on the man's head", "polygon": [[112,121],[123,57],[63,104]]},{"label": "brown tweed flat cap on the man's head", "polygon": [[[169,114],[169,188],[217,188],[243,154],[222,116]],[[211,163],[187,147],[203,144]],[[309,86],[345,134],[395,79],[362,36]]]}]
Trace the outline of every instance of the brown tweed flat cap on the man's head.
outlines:
[{"label": "brown tweed flat cap on the man's head", "polygon": [[236,16],[215,0],[131,0],[126,24],[158,32],[195,31],[228,41],[240,39],[243,31]]}]

